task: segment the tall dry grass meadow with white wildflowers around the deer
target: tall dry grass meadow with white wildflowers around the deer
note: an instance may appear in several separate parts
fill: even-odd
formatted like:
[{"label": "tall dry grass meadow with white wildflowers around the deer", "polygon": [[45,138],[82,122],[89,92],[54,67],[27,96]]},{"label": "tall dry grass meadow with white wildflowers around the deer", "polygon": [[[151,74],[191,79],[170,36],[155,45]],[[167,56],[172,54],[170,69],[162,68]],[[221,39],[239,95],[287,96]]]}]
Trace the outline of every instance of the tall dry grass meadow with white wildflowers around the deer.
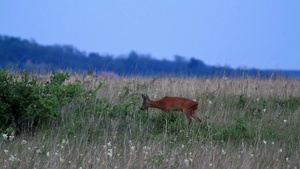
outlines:
[{"label": "tall dry grass meadow with white wildflowers around the deer", "polygon": [[[51,76],[29,79],[43,86]],[[34,131],[2,132],[2,168],[300,167],[299,79],[72,73],[62,86],[74,83],[94,97],[72,98]],[[195,100],[202,123],[188,126],[177,111],[141,111],[142,93]]]}]

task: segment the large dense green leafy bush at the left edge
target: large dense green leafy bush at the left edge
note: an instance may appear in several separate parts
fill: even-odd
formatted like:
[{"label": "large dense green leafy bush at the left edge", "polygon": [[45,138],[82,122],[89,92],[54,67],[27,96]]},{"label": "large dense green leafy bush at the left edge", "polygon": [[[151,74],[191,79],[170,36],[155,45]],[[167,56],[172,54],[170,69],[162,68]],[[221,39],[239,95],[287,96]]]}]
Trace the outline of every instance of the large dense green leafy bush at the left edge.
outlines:
[{"label": "large dense green leafy bush at the left edge", "polygon": [[33,131],[41,123],[57,120],[67,104],[93,100],[99,89],[87,91],[78,80],[65,84],[70,77],[68,73],[53,71],[47,85],[39,84],[28,72],[21,71],[20,75],[21,80],[15,80],[7,67],[0,69],[0,131],[9,127],[17,133]]}]

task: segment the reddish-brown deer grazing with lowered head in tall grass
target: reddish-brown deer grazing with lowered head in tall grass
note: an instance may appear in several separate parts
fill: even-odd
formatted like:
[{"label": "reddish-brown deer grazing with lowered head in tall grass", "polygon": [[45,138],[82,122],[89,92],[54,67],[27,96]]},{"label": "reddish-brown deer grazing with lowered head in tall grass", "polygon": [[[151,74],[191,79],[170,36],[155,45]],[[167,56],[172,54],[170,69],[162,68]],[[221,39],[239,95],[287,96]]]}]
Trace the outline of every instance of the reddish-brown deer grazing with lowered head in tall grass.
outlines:
[{"label": "reddish-brown deer grazing with lowered head in tall grass", "polygon": [[165,112],[172,110],[183,111],[186,115],[188,125],[191,124],[192,118],[201,123],[200,118],[197,116],[199,104],[193,100],[184,97],[169,97],[166,96],[160,100],[150,100],[148,95],[142,94],[143,105],[141,110],[147,110],[149,107],[158,108]]}]

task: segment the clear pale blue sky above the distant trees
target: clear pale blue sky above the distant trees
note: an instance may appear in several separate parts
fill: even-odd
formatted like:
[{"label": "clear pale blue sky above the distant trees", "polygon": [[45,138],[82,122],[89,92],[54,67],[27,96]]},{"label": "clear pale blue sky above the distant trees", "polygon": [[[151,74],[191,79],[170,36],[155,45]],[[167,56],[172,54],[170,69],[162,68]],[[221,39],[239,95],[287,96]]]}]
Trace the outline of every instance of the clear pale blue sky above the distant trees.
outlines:
[{"label": "clear pale blue sky above the distant trees", "polygon": [[300,70],[299,0],[0,0],[0,35],[116,57]]}]

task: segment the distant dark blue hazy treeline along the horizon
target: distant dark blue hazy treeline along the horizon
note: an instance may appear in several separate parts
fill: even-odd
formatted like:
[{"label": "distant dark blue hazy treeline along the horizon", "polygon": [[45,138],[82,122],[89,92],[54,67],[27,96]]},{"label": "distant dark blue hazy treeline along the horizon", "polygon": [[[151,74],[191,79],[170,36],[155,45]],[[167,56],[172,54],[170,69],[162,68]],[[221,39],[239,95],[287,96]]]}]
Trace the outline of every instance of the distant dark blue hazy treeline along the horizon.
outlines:
[{"label": "distant dark blue hazy treeline along the horizon", "polygon": [[118,75],[182,75],[182,76],[260,76],[269,77],[279,72],[257,69],[232,69],[208,66],[203,61],[174,56],[174,61],[157,60],[134,51],[127,56],[113,57],[86,53],[70,45],[44,46],[34,40],[0,36],[0,66],[35,71],[53,69],[113,72]]}]

